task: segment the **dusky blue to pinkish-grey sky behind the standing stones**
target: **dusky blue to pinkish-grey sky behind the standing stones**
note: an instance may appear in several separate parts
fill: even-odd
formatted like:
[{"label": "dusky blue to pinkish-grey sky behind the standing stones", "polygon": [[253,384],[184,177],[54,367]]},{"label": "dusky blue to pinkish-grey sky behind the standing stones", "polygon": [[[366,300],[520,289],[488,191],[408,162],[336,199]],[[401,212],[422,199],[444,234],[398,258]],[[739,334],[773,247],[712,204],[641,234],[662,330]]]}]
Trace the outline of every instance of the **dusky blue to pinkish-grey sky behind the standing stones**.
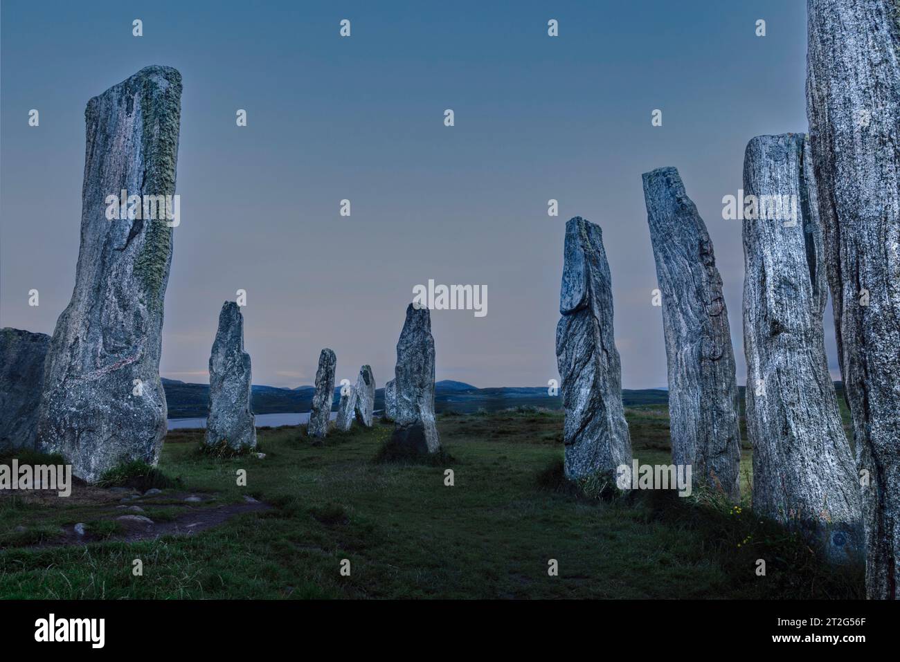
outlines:
[{"label": "dusky blue to pinkish-grey sky behind the standing stones", "polygon": [[[806,131],[805,5],[4,0],[0,326],[53,332],[75,281],[85,103],[157,64],[184,83],[164,377],[208,380],[240,289],[254,383],[311,384],[330,347],[338,380],[369,363],[382,386],[433,279],[487,291],[483,317],[432,311],[438,380],[546,385],[564,226],[582,216],[603,228],[623,386],[665,386],[641,174],[673,165],[715,246],[743,384],[741,221],[722,198],[752,137]],[[825,329],[837,376],[830,309]]]}]

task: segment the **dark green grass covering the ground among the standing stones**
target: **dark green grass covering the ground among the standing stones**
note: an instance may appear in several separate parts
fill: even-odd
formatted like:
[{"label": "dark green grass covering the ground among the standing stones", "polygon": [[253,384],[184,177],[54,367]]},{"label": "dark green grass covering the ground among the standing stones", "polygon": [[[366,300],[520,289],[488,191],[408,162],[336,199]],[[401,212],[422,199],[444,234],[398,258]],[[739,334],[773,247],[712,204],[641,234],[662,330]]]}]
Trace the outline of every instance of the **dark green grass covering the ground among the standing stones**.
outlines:
[{"label": "dark green grass covering the ground among the standing stones", "polygon": [[[635,457],[668,464],[666,407],[626,416]],[[248,495],[274,507],[192,536],[23,550],[16,545],[32,527],[46,533],[54,523],[88,522],[89,504],[78,491],[69,502],[43,504],[0,496],[0,597],[863,595],[860,568],[825,564],[785,530],[753,518],[747,502],[732,514],[704,495],[589,498],[539,484],[559,467],[562,424],[561,413],[545,410],[439,416],[441,443],[455,458],[453,488],[444,486],[443,466],[374,462],[392,425],[355,425],[320,447],[302,427],[260,430],[265,460],[202,456],[202,431],[173,432],[160,470],[181,477],[185,489],[214,493],[218,503]],[[748,495],[746,443],[742,465]],[[247,488],[236,485],[238,469],[247,470]],[[25,527],[19,539],[16,525]],[[135,558],[143,577],[131,574]],[[755,574],[761,558],[765,577]],[[349,559],[350,577],[340,576],[341,559]],[[558,577],[547,575],[549,559],[558,560]]]}]

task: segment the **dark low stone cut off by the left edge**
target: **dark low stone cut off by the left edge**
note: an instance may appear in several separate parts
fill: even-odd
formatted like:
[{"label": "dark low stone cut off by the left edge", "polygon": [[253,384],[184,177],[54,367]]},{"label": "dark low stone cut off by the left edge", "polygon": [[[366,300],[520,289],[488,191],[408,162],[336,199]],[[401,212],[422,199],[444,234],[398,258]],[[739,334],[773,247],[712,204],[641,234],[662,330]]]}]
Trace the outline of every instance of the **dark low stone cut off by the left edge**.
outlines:
[{"label": "dark low stone cut off by the left edge", "polygon": [[0,451],[34,448],[50,336],[0,329]]}]

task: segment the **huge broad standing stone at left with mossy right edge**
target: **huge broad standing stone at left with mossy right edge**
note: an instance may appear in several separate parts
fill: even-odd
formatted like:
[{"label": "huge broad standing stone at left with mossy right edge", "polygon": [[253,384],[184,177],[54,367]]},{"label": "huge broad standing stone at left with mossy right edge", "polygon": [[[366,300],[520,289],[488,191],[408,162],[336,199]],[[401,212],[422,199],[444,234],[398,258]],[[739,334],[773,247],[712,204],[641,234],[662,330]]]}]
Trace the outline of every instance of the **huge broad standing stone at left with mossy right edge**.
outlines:
[{"label": "huge broad standing stone at left with mossy right edge", "polygon": [[171,67],[143,68],[85,110],[75,290],[50,342],[38,442],[87,481],[122,461],[156,463],[166,435],[159,354],[177,205],[165,196],[180,113]]}]

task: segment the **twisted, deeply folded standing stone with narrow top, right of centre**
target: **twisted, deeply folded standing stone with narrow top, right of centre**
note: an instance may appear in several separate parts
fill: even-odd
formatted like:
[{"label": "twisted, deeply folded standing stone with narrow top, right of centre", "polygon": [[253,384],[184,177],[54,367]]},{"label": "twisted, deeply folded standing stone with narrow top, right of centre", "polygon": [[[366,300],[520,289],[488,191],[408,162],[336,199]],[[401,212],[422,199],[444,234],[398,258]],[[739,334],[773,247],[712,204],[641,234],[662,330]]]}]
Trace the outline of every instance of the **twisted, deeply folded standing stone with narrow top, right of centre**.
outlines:
[{"label": "twisted, deeply folded standing stone with narrow top, right of centre", "polygon": [[565,475],[614,480],[619,467],[631,471],[632,454],[603,231],[581,217],[570,219],[563,250],[556,362],[563,378]]}]

